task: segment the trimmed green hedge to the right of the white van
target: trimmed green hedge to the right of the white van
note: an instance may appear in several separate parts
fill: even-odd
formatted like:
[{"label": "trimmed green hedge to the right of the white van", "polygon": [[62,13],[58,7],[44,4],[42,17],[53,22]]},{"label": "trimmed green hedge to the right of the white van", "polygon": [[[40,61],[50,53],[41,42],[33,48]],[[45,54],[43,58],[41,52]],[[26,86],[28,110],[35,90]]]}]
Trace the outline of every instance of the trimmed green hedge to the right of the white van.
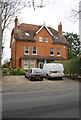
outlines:
[{"label": "trimmed green hedge to the right of the white van", "polygon": [[65,75],[72,77],[81,76],[81,64],[79,59],[63,60],[63,61],[54,61],[54,63],[62,63],[64,66]]}]

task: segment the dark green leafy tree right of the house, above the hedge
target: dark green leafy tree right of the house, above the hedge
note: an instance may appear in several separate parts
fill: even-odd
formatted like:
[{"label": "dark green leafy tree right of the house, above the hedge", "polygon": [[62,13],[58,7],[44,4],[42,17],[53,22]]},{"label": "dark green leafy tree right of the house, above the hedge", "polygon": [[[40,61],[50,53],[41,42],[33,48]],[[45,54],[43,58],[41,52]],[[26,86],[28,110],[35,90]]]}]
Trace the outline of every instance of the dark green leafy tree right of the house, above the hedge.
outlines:
[{"label": "dark green leafy tree right of the house, above the hedge", "polygon": [[68,41],[68,57],[69,59],[77,57],[80,52],[80,40],[79,35],[73,33],[64,33],[65,38]]}]

